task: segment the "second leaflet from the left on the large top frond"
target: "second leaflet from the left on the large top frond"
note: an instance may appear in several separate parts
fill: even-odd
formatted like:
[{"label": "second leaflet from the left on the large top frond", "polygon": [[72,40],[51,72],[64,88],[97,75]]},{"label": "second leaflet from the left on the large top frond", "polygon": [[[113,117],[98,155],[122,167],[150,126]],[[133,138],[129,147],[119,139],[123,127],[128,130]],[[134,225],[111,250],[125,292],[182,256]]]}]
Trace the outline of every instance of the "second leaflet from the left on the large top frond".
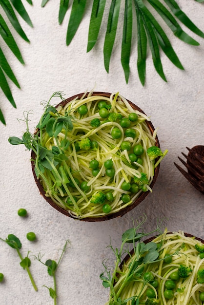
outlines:
[{"label": "second leaflet from the left on the large top frond", "polygon": [[69,18],[66,45],[69,45],[74,38],[78,27],[82,21],[83,13],[85,11],[86,0],[74,0],[72,10]]}]

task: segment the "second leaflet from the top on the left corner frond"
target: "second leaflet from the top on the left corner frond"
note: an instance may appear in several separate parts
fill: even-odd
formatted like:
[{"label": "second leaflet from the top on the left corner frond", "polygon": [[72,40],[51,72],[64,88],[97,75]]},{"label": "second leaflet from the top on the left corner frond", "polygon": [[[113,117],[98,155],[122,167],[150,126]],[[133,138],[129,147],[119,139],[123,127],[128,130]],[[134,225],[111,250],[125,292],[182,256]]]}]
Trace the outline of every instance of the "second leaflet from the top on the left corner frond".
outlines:
[{"label": "second leaflet from the top on the left corner frond", "polygon": [[4,12],[6,13],[9,21],[13,25],[14,29],[17,31],[17,33],[20,35],[21,38],[23,38],[25,41],[29,42],[29,39],[25,35],[19,20],[16,17],[16,14],[13,10],[13,7],[11,6],[10,2],[8,0],[0,0],[0,5],[2,6]]}]

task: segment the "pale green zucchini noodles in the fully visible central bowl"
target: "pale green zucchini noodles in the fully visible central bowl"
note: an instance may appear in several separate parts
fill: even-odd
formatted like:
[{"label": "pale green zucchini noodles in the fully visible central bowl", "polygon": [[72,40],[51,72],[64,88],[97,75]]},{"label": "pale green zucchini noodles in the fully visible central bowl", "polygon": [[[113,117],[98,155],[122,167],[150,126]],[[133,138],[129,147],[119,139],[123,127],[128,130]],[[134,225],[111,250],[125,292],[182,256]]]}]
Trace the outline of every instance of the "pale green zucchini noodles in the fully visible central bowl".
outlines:
[{"label": "pale green zucchini noodles in the fully visible central bowl", "polygon": [[[92,203],[91,197],[96,191],[102,191],[104,194],[111,192],[114,199],[110,202],[105,201],[111,207],[108,213],[112,214],[121,211],[128,205],[131,205],[143,192],[139,189],[137,192],[123,191],[121,186],[122,182],[133,183],[134,177],[140,178],[141,173],[146,174],[148,183],[146,184],[146,191],[152,191],[149,185],[154,177],[154,160],[150,160],[146,150],[156,145],[156,132],[152,134],[148,128],[146,121],[149,121],[142,112],[135,110],[131,107],[129,102],[120,94],[112,94],[110,97],[101,95],[91,95],[87,97],[83,95],[81,98],[74,98],[71,102],[66,103],[64,106],[58,105],[56,117],[69,117],[71,118],[73,129],[68,130],[63,126],[57,136],[49,136],[46,128],[42,129],[41,145],[48,150],[52,150],[53,146],[59,148],[61,154],[66,156],[66,160],[62,161],[62,166],[66,172],[67,178],[71,183],[65,186],[57,185],[55,176],[56,172],[52,171],[50,174],[49,169],[45,168],[43,175],[40,174],[40,183],[45,191],[45,196],[50,197],[62,209],[69,211],[70,215],[77,219],[86,217],[101,217],[106,215],[103,212],[103,204]],[[138,115],[136,121],[131,121],[129,128],[136,133],[135,137],[126,136],[125,130],[120,125],[120,121],[109,121],[108,118],[102,118],[99,114],[98,104],[100,101],[105,101],[108,107],[109,114],[121,114],[121,117],[128,118],[129,114],[135,113]],[[87,113],[80,114],[79,107],[87,106]],[[90,122],[93,119],[100,119],[100,126],[92,127]],[[55,124],[55,123],[54,123]],[[121,132],[121,137],[115,139],[111,133],[114,128]],[[92,143],[97,142],[96,148],[77,149],[77,144],[82,139],[89,139]],[[68,142],[69,145],[63,151],[62,143]],[[123,141],[131,143],[131,150],[121,149]],[[133,152],[135,145],[143,147],[142,164],[137,160],[130,161],[129,154]],[[106,175],[104,162],[112,159],[113,169],[115,174],[113,177]],[[92,160],[99,162],[99,171],[96,175],[92,174],[92,169],[89,163]],[[39,168],[39,167],[38,167]],[[56,167],[58,169],[58,166]],[[71,175],[71,176],[70,176]],[[60,177],[60,176],[59,176]],[[46,178],[46,179],[44,179]],[[79,184],[76,183],[76,179]],[[46,181],[45,181],[46,180]],[[61,180],[61,179],[60,179]],[[82,191],[80,185],[86,182],[89,187],[88,191]],[[74,185],[73,185],[74,184]],[[70,196],[71,193],[71,196]],[[123,202],[121,199],[122,194],[128,194],[130,200]],[[67,200],[71,198],[71,203]]]}]

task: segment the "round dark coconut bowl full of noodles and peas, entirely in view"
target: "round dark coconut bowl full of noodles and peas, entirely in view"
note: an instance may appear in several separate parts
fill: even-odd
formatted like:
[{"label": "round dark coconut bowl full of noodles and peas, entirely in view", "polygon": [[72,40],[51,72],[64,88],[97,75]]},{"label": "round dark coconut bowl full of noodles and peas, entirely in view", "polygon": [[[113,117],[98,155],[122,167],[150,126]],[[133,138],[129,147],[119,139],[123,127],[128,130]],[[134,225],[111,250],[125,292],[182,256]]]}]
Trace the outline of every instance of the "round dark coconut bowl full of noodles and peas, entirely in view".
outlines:
[{"label": "round dark coconut bowl full of noodles and peas, entirely in view", "polygon": [[75,220],[104,221],[133,210],[152,192],[160,148],[149,118],[122,95],[90,92],[45,107],[35,131],[32,171],[44,199]]}]

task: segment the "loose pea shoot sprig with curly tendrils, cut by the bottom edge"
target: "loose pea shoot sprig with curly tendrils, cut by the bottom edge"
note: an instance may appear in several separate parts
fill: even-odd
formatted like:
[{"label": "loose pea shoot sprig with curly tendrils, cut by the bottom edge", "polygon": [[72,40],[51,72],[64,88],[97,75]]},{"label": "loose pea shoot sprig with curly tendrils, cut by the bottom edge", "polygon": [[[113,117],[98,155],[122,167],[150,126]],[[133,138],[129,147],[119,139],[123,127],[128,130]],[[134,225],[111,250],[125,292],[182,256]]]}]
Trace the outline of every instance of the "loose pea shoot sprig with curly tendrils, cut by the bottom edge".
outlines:
[{"label": "loose pea shoot sprig with curly tendrils, cut by the bottom edge", "polygon": [[67,245],[70,244],[70,241],[67,240],[64,244],[64,247],[61,249],[61,255],[60,258],[58,260],[58,262],[48,259],[45,261],[45,263],[42,262],[42,257],[44,256],[43,254],[41,254],[41,252],[38,254],[38,256],[35,256],[34,258],[36,260],[38,260],[41,264],[43,264],[44,266],[47,267],[47,272],[50,276],[53,277],[53,282],[54,282],[54,287],[48,287],[43,285],[44,287],[46,287],[49,290],[50,296],[51,298],[54,300],[54,305],[57,305],[57,282],[56,282],[56,271],[57,268],[60,265],[62,256],[64,254],[64,252],[66,251]]}]

